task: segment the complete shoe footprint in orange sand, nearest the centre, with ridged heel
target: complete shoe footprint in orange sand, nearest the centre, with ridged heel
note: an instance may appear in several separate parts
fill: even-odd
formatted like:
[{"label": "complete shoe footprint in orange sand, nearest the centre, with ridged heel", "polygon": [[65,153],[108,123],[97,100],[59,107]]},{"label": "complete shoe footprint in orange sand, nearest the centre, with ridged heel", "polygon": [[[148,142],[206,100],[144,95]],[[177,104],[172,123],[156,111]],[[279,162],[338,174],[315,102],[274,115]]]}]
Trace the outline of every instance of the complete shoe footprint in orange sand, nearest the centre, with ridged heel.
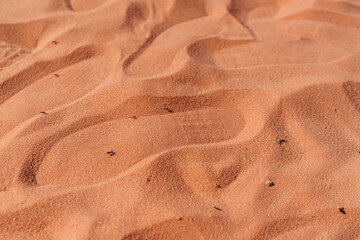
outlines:
[{"label": "complete shoe footprint in orange sand, nearest the centre, with ridged heel", "polygon": [[[104,181],[153,154],[186,145],[226,141],[242,127],[242,119],[220,108],[104,122],[57,142],[44,158],[36,179],[39,185]],[[70,150],[68,146],[72,146]],[[116,155],[106,158],[108,149],[113,149]]]}]

